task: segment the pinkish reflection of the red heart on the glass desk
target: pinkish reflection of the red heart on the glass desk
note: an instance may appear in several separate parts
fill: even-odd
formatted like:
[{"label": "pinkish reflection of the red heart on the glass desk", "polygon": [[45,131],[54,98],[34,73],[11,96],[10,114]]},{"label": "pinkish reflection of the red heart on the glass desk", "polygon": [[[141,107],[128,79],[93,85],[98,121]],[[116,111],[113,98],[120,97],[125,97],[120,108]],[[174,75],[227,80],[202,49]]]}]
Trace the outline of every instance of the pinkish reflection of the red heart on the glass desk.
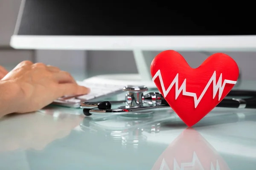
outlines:
[{"label": "pinkish reflection of the red heart on the glass desk", "polygon": [[161,154],[152,170],[230,170],[218,152],[198,133],[185,129]]}]

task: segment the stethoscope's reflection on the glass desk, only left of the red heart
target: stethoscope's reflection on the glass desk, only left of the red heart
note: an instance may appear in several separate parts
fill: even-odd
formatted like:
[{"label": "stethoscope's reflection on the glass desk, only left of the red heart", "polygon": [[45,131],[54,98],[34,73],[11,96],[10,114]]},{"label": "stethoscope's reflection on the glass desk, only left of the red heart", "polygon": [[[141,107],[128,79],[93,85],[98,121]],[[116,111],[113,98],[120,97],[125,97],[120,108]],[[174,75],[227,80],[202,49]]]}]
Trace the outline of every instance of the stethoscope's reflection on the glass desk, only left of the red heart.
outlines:
[{"label": "stethoscope's reflection on the glass desk, only left of the red heart", "polygon": [[[93,119],[94,118],[94,119]],[[84,117],[81,130],[105,136],[111,142],[122,147],[138,148],[147,142],[147,134],[159,133],[161,125],[166,122],[180,121],[175,114],[159,112],[156,115],[144,116],[90,116]]]}]

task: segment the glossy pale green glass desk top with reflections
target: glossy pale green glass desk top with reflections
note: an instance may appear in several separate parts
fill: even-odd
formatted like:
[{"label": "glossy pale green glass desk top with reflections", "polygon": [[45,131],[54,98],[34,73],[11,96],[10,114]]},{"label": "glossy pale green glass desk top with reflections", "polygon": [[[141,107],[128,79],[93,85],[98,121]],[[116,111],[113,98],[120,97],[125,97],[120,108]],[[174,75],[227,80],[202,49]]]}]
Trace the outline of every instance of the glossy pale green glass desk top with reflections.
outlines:
[{"label": "glossy pale green glass desk top with reflections", "polygon": [[0,119],[0,170],[255,170],[255,131],[250,109],[215,108],[187,128],[171,109],[86,117],[47,106]]}]

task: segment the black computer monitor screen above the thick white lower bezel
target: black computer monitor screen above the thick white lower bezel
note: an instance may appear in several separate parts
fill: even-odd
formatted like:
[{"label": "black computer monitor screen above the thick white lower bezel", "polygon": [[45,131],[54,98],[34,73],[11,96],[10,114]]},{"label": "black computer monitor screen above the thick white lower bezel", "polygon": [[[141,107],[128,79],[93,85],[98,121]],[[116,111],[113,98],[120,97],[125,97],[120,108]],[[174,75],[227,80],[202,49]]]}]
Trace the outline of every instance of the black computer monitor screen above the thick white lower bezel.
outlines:
[{"label": "black computer monitor screen above the thick white lower bezel", "polygon": [[[253,35],[252,14],[169,1],[26,0],[20,35]],[[169,2],[169,3],[167,3]],[[249,20],[249,21],[248,21]]]}]

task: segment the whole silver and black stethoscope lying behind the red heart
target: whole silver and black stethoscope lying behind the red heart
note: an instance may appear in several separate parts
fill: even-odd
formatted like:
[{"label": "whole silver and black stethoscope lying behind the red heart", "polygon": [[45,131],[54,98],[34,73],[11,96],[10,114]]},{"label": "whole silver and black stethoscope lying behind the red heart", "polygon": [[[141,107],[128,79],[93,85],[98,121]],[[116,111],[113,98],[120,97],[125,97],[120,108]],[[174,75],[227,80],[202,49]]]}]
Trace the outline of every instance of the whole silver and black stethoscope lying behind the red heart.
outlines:
[{"label": "whole silver and black stethoscope lying behind the red heart", "polygon": [[[145,86],[126,85],[123,91],[125,100],[82,102],[80,107],[86,116],[90,115],[144,115],[151,114],[154,110],[171,109],[162,94],[148,91]],[[243,98],[223,99],[216,107],[222,108],[256,108],[256,91],[232,90],[227,97],[240,96]],[[116,108],[112,108],[116,105]]]}]

